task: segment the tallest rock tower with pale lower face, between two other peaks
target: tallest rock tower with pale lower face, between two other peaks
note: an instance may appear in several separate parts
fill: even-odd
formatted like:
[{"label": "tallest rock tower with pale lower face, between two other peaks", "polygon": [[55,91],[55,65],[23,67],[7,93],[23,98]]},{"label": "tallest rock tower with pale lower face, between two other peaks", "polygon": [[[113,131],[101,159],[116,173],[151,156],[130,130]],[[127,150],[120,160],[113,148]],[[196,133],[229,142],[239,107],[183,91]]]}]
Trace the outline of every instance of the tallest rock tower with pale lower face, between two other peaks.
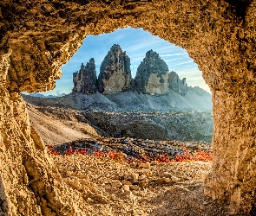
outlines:
[{"label": "tallest rock tower with pale lower face, between two other peaks", "polygon": [[99,74],[99,92],[113,94],[130,90],[130,59],[122,52],[118,44],[114,44],[102,61]]}]

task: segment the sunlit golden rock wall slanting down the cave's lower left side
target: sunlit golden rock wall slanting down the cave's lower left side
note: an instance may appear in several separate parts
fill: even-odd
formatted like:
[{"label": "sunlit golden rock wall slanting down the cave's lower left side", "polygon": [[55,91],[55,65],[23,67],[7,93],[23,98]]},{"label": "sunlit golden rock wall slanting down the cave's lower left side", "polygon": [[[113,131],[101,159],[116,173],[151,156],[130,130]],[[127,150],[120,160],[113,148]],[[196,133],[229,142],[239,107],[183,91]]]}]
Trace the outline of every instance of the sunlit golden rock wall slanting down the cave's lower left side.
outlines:
[{"label": "sunlit golden rock wall slanting down the cave's lower left side", "polygon": [[82,195],[62,180],[21,94],[5,86],[10,54],[0,61],[0,215],[83,215]]}]

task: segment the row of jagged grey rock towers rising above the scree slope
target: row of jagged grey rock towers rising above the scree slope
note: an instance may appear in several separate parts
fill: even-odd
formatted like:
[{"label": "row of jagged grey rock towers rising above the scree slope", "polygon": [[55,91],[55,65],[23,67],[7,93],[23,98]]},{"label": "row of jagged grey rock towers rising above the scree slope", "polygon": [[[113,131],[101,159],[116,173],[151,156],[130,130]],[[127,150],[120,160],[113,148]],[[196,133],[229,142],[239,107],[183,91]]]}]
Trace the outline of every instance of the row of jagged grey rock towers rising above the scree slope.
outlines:
[{"label": "row of jagged grey rock towers rising above the scree slope", "polygon": [[91,58],[79,72],[73,73],[72,92],[82,94],[115,94],[119,92],[141,92],[151,95],[167,94],[170,90],[186,95],[186,78],[182,80],[174,71],[169,72],[167,63],[152,49],[137,68],[135,79],[131,76],[130,59],[120,45],[114,44],[108,51],[100,67],[98,78],[95,60]]}]

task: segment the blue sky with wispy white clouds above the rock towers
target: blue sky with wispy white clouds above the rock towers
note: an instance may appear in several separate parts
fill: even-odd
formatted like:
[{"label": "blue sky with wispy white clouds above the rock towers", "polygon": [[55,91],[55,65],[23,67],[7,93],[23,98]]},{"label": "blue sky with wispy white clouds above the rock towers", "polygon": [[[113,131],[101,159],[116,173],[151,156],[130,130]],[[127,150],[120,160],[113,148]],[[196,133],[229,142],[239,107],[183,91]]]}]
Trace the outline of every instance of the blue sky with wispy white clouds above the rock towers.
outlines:
[{"label": "blue sky with wispy white clouds above the rock towers", "polygon": [[153,49],[165,60],[169,71],[178,73],[180,79],[186,77],[188,86],[200,86],[210,92],[202,73],[194,61],[188,56],[187,51],[174,44],[164,41],[158,36],[151,35],[143,29],[117,29],[115,32],[101,35],[88,35],[82,47],[73,57],[62,66],[62,78],[56,80],[56,88],[44,95],[57,95],[69,93],[73,88],[73,73],[78,71],[81,64],[86,64],[90,58],[95,59],[96,73],[100,73],[102,60],[108,54],[113,44],[119,44],[122,51],[126,51],[131,60],[132,77],[135,78],[136,70],[145,58],[148,50]]}]

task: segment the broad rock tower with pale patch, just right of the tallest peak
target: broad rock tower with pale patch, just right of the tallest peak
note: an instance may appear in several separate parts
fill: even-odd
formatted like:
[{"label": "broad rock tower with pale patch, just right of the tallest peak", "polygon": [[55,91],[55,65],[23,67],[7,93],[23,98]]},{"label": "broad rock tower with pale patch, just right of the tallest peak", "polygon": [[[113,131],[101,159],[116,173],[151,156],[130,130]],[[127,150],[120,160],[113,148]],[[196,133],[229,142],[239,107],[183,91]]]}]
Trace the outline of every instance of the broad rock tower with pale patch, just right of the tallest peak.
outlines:
[{"label": "broad rock tower with pale patch, just right of the tallest peak", "polygon": [[168,92],[168,67],[159,54],[152,49],[137,69],[135,86],[139,92],[148,94],[165,94]]}]

